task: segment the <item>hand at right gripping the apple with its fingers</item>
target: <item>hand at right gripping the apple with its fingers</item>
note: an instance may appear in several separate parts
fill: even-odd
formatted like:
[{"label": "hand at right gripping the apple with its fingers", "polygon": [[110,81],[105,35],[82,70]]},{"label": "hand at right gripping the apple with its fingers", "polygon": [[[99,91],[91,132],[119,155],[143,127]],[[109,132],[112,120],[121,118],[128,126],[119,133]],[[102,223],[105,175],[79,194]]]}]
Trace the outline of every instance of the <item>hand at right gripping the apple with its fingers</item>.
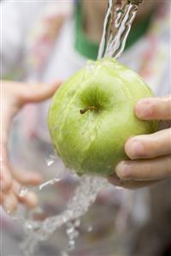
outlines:
[{"label": "hand at right gripping the apple with its fingers", "polygon": [[[169,122],[171,97],[144,98],[136,104],[135,114],[143,120]],[[171,128],[130,138],[125,151],[132,160],[122,161],[116,166],[121,181],[111,179],[111,182],[118,186],[139,188],[171,176]]]}]

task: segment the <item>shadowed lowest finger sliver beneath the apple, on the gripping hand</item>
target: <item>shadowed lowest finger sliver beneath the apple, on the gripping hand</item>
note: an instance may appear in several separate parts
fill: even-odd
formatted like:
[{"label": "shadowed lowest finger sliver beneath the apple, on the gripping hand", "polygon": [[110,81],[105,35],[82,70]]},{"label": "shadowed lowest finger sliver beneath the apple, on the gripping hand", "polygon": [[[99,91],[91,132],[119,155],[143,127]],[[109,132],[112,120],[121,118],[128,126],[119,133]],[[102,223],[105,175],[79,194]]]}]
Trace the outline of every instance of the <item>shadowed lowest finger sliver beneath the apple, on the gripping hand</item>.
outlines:
[{"label": "shadowed lowest finger sliver beneath the apple, on the gripping hand", "polygon": [[133,181],[133,180],[125,181],[125,180],[115,179],[113,177],[110,177],[109,182],[111,184],[113,184],[114,186],[120,187],[120,188],[139,189],[139,188],[149,187],[151,185],[156,184],[156,182],[159,182],[159,181],[147,181],[147,182],[146,181],[145,182],[140,181],[140,182],[137,182],[137,181]]}]

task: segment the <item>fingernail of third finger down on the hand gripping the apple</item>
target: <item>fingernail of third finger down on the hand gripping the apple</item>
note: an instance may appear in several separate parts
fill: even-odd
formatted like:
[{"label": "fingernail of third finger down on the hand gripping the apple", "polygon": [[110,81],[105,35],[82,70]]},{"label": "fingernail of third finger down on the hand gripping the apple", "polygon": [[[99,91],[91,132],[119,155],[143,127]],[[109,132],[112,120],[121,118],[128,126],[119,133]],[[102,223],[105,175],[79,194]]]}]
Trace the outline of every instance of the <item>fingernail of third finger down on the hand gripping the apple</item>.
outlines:
[{"label": "fingernail of third finger down on the hand gripping the apple", "polygon": [[120,164],[117,164],[115,168],[117,176],[119,176],[123,180],[130,180],[131,170],[131,164],[127,164],[127,162],[125,161],[122,161]]}]

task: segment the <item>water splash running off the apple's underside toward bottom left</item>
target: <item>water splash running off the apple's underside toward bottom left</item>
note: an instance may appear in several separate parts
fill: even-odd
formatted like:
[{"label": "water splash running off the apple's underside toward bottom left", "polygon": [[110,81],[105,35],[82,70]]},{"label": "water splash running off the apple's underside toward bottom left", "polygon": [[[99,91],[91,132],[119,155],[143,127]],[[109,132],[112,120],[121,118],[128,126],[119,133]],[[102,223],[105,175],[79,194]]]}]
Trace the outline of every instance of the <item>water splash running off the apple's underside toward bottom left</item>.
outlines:
[{"label": "water splash running off the apple's underside toward bottom left", "polygon": [[[27,238],[21,245],[23,255],[31,256],[35,247],[38,246],[38,241],[47,240],[50,235],[62,225],[75,220],[78,221],[78,219],[88,211],[89,206],[95,201],[97,193],[103,188],[106,188],[108,184],[107,179],[102,177],[82,176],[80,178],[80,185],[76,188],[74,197],[68,202],[66,211],[63,211],[61,214],[54,217],[47,217],[41,222],[27,220],[24,223]],[[77,222],[77,224],[79,223]],[[69,248],[71,249],[74,248],[76,232],[75,230],[71,232],[71,229],[68,229],[68,233],[74,235],[74,237],[69,236]]]}]

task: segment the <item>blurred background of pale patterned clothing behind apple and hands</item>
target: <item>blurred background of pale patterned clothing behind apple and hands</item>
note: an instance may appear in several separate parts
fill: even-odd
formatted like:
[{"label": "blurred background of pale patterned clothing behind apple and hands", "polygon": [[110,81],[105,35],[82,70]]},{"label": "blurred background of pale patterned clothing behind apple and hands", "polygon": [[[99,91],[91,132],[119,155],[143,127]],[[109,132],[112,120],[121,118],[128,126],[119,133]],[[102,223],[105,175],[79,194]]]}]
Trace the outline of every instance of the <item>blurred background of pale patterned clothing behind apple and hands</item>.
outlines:
[{"label": "blurred background of pale patterned clothing behind apple and hands", "polygon": [[[26,81],[28,90],[35,81],[48,86],[54,80],[67,80],[87,59],[97,58],[107,0],[4,0],[0,6],[1,79]],[[169,0],[144,0],[120,58],[158,96],[170,93],[170,14]],[[78,184],[59,158],[50,164],[49,104],[28,104],[16,116],[9,139],[10,160],[15,166],[40,172],[44,182],[62,173],[56,184],[41,191],[35,188],[43,209],[38,219],[62,212]],[[1,255],[22,256],[21,224],[2,208],[0,211]],[[28,217],[22,207],[20,214]],[[40,243],[35,255],[61,256],[68,247],[65,228]],[[136,191],[109,186],[81,217],[78,231],[72,256],[171,255],[170,179]]]}]

